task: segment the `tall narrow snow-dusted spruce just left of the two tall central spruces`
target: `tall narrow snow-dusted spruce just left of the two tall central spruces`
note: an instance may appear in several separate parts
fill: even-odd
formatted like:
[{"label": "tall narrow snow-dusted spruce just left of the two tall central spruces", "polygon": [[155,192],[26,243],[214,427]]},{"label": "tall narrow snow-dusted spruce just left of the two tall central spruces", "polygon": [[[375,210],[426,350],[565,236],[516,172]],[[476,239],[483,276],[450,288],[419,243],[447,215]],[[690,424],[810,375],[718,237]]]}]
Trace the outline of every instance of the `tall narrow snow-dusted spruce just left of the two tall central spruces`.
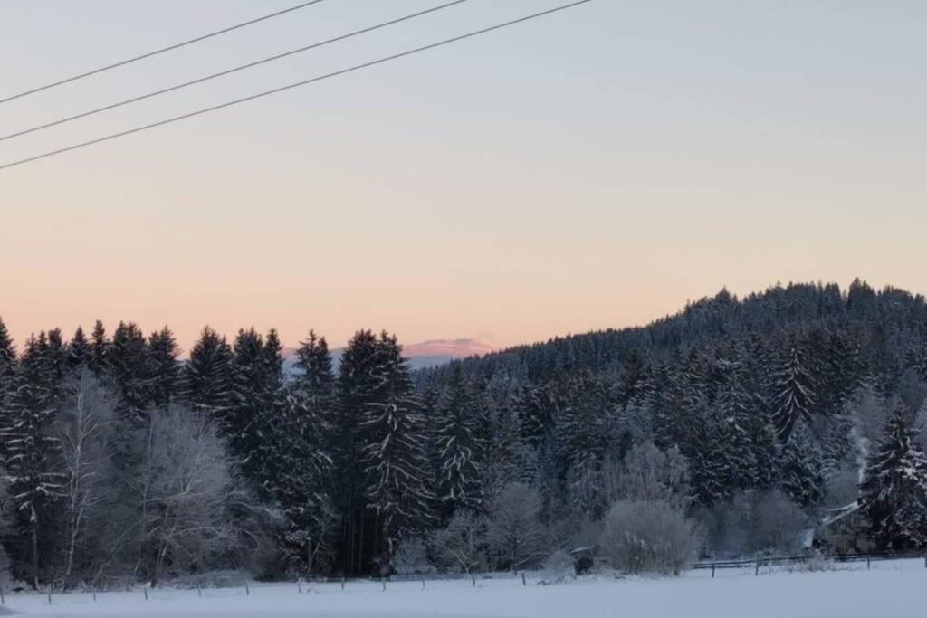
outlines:
[{"label": "tall narrow snow-dusted spruce just left of the two tall central spruces", "polygon": [[335,374],[324,337],[313,331],[297,349],[296,374],[288,388],[286,415],[278,432],[279,457],[285,459],[276,479],[286,518],[285,542],[291,559],[311,573],[315,558],[331,540],[331,473]]}]

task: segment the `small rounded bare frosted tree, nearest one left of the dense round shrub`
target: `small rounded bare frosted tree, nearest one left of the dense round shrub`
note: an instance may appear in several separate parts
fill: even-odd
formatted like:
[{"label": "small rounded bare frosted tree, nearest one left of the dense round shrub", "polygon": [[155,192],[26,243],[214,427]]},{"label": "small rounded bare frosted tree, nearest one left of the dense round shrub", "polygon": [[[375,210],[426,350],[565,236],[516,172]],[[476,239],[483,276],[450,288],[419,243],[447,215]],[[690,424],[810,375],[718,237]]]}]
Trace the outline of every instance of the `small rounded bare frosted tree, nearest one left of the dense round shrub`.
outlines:
[{"label": "small rounded bare frosted tree, nearest one left of the dense round shrub", "polygon": [[522,483],[510,483],[489,505],[489,551],[501,568],[517,570],[545,553],[545,530],[539,519],[540,496]]}]

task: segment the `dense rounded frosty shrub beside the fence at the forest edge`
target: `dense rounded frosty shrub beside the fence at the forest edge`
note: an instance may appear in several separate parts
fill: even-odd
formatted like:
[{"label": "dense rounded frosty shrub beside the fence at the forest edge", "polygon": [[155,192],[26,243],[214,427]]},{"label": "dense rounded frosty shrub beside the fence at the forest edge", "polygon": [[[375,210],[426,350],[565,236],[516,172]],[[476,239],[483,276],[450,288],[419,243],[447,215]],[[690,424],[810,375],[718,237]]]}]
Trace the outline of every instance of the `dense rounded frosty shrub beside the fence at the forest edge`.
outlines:
[{"label": "dense rounded frosty shrub beside the fence at the forest edge", "polygon": [[694,560],[701,542],[698,526],[663,500],[616,502],[605,516],[599,540],[619,571],[674,575]]}]

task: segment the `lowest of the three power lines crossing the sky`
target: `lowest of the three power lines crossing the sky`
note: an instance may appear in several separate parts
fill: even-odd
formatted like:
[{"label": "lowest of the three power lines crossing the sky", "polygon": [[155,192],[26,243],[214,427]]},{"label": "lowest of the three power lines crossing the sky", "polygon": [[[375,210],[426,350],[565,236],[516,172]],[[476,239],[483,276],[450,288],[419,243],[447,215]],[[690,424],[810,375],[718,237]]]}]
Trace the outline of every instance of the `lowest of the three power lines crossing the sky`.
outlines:
[{"label": "lowest of the three power lines crossing the sky", "polygon": [[569,4],[555,6],[545,11],[540,11],[539,13],[532,13],[531,15],[526,15],[518,19],[511,19],[509,21],[503,21],[502,23],[496,24],[494,26],[489,26],[488,28],[482,28],[480,30],[476,30],[472,32],[466,32],[465,34],[460,34],[458,36],[451,37],[450,39],[444,39],[442,41],[438,41],[437,43],[426,44],[426,45],[422,45],[421,47],[414,47],[413,49],[400,52],[399,54],[393,54],[392,56],[380,57],[375,60],[370,60],[362,64],[354,65],[353,67],[349,67],[347,69],[339,69],[336,71],[332,71],[331,73],[325,73],[324,75],[312,77],[308,80],[303,80],[302,82],[289,83],[289,84],[286,84],[286,86],[280,86],[279,88],[273,88],[273,90],[265,90],[264,92],[258,93],[257,95],[244,96],[242,98],[238,98],[232,101],[221,103],[219,105],[215,105],[211,107],[204,107],[202,109],[197,109],[197,111],[191,111],[186,114],[182,114],[180,116],[174,116],[172,118],[168,118],[165,120],[159,120],[158,122],[152,122],[151,124],[146,124],[140,127],[135,127],[134,129],[129,129],[128,131],[110,133],[109,135],[98,137],[94,140],[90,140],[89,142],[82,142],[81,144],[75,144],[75,145],[70,145],[64,148],[58,148],[57,150],[52,150],[50,152],[46,152],[41,155],[36,155],[34,157],[22,158],[22,159],[19,159],[18,161],[13,161],[12,163],[6,163],[5,165],[0,165],[0,170],[7,170],[9,168],[16,167],[18,165],[24,165],[26,163],[31,163],[32,161],[37,161],[41,158],[55,157],[56,155],[61,155],[66,152],[70,152],[71,150],[77,150],[79,148],[85,148],[90,145],[96,145],[102,142],[108,142],[110,140],[114,140],[120,137],[125,137],[126,135],[132,135],[133,133],[147,131],[148,129],[154,129],[156,127],[161,127],[161,126],[164,126],[165,124],[171,124],[172,122],[177,122],[179,120],[186,120],[188,118],[193,118],[195,116],[201,116],[203,114],[208,114],[212,111],[223,109],[225,107],[232,107],[235,105],[239,105],[241,103],[246,103],[248,101],[253,101],[255,99],[259,99],[264,96],[276,95],[277,93],[282,93],[287,90],[292,90],[293,88],[298,88],[299,86],[305,86],[305,85],[308,85],[310,83],[315,83],[315,82],[322,82],[324,80],[337,77],[338,75],[344,75],[346,73],[351,73],[356,70],[369,69],[370,67],[375,67],[376,65],[380,65],[385,62],[390,62],[392,60],[398,60],[399,58],[402,58],[402,57],[413,56],[415,54],[419,54],[429,49],[435,49],[436,47],[441,47],[443,45],[457,43],[458,41],[464,41],[464,39],[470,39],[472,37],[479,36],[481,34],[486,34],[488,32],[502,30],[503,28],[514,26],[515,24],[523,23],[525,21],[530,21],[531,19],[538,19],[540,17],[544,17],[545,15],[551,15],[552,13],[558,13],[568,8],[573,8],[574,6],[585,5],[589,2],[592,2],[592,0],[577,0],[576,2],[571,2]]}]

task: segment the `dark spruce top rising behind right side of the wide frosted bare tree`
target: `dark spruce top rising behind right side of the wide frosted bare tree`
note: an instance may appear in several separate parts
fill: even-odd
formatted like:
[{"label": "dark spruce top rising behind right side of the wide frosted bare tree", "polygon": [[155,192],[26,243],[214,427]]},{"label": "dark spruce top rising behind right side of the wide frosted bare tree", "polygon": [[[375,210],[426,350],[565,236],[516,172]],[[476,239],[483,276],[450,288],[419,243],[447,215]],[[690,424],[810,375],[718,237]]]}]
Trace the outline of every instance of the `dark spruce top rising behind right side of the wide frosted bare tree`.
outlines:
[{"label": "dark spruce top rising behind right side of the wide frosted bare tree", "polygon": [[184,364],[182,392],[190,408],[222,425],[232,407],[232,347],[209,326]]}]

